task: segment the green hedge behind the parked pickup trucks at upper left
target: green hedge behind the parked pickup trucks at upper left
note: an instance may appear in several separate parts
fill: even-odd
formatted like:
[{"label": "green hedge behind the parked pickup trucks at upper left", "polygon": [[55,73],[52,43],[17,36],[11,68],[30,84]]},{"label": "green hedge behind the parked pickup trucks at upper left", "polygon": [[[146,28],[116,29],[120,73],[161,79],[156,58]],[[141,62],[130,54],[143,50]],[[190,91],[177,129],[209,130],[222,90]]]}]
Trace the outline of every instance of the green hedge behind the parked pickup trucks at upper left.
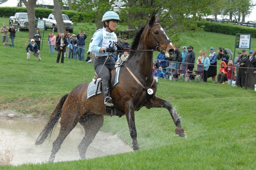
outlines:
[{"label": "green hedge behind the parked pickup trucks at upper left", "polygon": [[[48,18],[49,14],[52,13],[53,9],[48,8],[35,8],[36,18]],[[27,9],[24,7],[0,7],[0,17],[10,17],[14,16],[16,12],[27,12]],[[81,22],[81,18],[76,11],[73,10],[62,10],[62,14],[66,14],[70,20]]]}]

